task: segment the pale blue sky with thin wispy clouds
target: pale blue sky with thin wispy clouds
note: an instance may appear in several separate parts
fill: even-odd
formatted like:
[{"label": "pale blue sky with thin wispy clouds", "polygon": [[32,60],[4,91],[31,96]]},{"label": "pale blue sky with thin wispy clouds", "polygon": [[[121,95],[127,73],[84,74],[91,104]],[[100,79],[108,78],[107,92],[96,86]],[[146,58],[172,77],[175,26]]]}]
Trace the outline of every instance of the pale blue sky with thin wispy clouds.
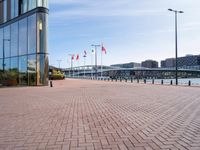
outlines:
[{"label": "pale blue sky with thin wispy clouds", "polygon": [[79,54],[83,65],[84,50],[91,64],[91,44],[101,43],[104,65],[174,57],[174,13],[168,8],[185,12],[178,15],[178,55],[200,54],[199,0],[49,1],[50,65],[62,60],[61,67],[70,67],[68,54]]}]

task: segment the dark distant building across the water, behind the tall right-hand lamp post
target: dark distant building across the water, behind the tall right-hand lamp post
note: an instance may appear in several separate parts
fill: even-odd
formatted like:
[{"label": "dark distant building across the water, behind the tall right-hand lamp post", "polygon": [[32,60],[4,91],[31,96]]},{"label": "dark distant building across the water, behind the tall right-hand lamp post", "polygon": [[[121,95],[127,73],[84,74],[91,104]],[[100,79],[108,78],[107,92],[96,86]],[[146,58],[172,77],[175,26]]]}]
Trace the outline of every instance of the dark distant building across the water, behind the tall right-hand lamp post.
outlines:
[{"label": "dark distant building across the water, behind the tall right-hand lamp post", "polygon": [[[186,55],[177,59],[178,67],[185,69],[199,68],[200,67],[200,55]],[[174,68],[176,66],[175,58],[168,58],[161,61],[162,68]]]}]

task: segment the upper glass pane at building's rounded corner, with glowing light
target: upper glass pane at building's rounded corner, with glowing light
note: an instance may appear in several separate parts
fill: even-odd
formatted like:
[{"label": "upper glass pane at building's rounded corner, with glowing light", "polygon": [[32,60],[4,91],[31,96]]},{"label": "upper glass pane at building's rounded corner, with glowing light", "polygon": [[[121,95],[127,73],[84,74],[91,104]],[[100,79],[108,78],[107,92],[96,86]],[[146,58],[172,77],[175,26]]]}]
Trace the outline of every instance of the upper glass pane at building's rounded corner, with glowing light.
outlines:
[{"label": "upper glass pane at building's rounded corner, with glowing light", "polygon": [[39,13],[37,19],[38,52],[47,52],[47,15]]}]

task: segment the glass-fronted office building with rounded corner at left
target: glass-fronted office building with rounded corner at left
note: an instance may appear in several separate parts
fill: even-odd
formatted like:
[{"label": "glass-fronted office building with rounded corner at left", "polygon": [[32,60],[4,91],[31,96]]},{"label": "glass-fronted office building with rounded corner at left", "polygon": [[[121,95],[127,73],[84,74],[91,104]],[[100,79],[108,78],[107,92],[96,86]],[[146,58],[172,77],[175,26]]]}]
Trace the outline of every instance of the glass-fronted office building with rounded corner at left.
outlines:
[{"label": "glass-fronted office building with rounded corner at left", "polygon": [[48,84],[48,0],[0,0],[0,73],[18,85]]}]

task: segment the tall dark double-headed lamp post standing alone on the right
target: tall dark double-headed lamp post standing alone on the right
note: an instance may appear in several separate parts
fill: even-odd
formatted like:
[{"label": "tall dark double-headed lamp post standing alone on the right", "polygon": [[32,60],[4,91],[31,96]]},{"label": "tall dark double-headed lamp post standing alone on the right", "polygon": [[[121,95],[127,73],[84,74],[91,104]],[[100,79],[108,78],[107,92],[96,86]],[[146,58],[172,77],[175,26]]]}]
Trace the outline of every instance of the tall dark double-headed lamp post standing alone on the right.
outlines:
[{"label": "tall dark double-headed lamp post standing alone on the right", "polygon": [[178,10],[173,10],[171,8],[168,9],[169,11],[171,12],[174,12],[175,13],[175,51],[176,51],[176,85],[178,85],[178,40],[177,40],[177,14],[178,13],[184,13],[183,11],[178,11]]}]

